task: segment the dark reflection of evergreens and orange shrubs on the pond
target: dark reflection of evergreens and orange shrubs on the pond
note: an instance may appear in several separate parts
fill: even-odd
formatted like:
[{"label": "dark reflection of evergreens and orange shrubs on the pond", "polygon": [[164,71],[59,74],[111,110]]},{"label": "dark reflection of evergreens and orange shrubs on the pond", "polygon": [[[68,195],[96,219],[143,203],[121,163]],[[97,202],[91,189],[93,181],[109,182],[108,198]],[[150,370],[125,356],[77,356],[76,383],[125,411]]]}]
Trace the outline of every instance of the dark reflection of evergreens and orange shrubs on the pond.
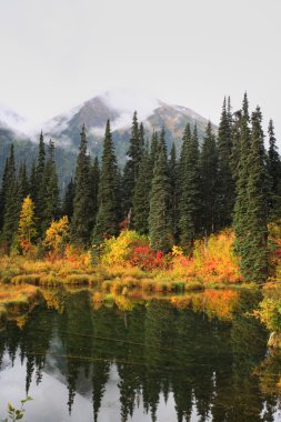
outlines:
[{"label": "dark reflection of evergreens and orange shrubs on the pond", "polygon": [[173,398],[179,422],[194,409],[198,421],[273,421],[281,361],[267,356],[267,333],[249,315],[260,298],[217,293],[144,304],[127,298],[99,309],[87,290],[44,293],[21,329],[11,321],[0,332],[0,362],[8,353],[26,363],[28,392],[50,371],[51,355],[67,383],[69,412],[77,392],[92,396],[94,422],[113,368],[122,422],[141,404],[157,421],[161,395]]}]

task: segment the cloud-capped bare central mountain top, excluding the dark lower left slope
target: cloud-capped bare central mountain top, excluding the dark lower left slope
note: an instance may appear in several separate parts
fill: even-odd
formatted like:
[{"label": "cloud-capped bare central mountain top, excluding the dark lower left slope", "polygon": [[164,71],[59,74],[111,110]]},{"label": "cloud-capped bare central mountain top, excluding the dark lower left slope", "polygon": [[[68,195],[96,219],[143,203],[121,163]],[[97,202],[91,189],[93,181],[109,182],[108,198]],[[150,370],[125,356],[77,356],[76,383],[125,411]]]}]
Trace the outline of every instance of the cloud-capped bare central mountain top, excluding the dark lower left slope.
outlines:
[{"label": "cloud-capped bare central mountain top, excluding the dark lower left slope", "polygon": [[57,141],[56,144],[77,151],[80,142],[79,133],[84,123],[89,150],[91,154],[100,157],[106,123],[110,119],[117,157],[123,165],[134,110],[138,112],[139,122],[142,121],[144,125],[148,139],[153,130],[164,128],[168,148],[174,141],[178,150],[187,123],[190,123],[192,129],[194,124],[198,125],[200,139],[203,138],[208,123],[207,119],[185,107],[168,104],[143,96],[134,98],[128,93],[123,94],[122,101],[122,94],[107,92],[51,119],[43,125],[43,131]]}]

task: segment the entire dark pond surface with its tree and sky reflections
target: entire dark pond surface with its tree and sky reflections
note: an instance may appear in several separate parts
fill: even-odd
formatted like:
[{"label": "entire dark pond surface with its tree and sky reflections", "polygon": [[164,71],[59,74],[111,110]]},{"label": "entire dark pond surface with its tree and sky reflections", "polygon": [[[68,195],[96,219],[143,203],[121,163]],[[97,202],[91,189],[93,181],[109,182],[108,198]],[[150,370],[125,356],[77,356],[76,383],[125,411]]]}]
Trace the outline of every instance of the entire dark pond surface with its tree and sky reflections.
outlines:
[{"label": "entire dark pond surface with its tree and sky reflections", "polygon": [[167,299],[94,307],[90,291],[44,298],[0,332],[0,419],[28,393],[28,422],[281,421],[281,363],[245,313],[258,303],[252,293],[240,294],[228,321]]}]

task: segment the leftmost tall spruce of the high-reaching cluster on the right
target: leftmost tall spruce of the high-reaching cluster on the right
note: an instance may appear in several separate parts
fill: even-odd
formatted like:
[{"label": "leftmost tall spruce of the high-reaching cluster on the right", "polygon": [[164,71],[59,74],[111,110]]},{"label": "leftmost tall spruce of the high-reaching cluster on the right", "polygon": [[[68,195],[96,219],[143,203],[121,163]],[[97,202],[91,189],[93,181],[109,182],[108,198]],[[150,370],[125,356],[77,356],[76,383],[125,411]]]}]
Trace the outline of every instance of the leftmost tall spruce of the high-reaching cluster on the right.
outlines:
[{"label": "leftmost tall spruce of the high-reaching cluster on the right", "polygon": [[232,122],[230,100],[227,109],[224,98],[218,132],[218,189],[219,225],[228,227],[232,221],[234,205],[234,182],[232,179],[230,155],[232,150]]}]

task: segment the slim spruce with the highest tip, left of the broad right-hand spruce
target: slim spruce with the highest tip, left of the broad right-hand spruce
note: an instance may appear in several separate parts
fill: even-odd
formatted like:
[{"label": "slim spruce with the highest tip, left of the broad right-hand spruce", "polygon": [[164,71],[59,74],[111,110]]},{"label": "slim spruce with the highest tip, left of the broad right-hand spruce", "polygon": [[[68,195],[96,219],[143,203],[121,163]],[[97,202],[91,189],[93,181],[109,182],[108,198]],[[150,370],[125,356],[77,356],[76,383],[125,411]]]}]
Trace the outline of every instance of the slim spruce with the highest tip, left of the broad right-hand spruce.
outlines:
[{"label": "slim spruce with the highest tip, left of the broad right-hand spruce", "polygon": [[250,138],[251,132],[249,128],[249,103],[247,93],[244,94],[242,114],[241,114],[241,139],[240,139],[240,153],[235,183],[235,204],[233,213],[233,227],[235,233],[234,251],[238,257],[243,260],[247,255],[247,250],[244,249],[244,241],[249,232],[248,227],[248,193],[247,184],[249,178],[249,152],[250,152]]}]

